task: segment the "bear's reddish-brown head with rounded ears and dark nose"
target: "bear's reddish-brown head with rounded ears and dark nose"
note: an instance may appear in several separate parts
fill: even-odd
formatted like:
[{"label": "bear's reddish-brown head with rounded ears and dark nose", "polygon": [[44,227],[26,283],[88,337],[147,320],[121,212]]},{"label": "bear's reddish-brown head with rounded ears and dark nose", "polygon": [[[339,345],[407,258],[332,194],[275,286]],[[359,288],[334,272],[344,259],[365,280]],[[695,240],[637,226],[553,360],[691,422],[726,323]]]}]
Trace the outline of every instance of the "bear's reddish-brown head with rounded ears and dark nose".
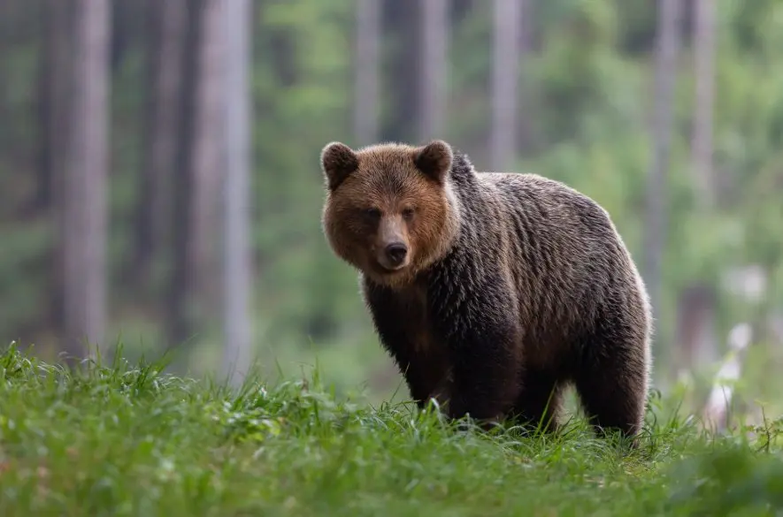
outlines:
[{"label": "bear's reddish-brown head with rounded ears and dark nose", "polygon": [[393,287],[410,283],[446,255],[459,228],[452,160],[444,141],[358,151],[340,142],[326,145],[323,227],[334,253]]}]

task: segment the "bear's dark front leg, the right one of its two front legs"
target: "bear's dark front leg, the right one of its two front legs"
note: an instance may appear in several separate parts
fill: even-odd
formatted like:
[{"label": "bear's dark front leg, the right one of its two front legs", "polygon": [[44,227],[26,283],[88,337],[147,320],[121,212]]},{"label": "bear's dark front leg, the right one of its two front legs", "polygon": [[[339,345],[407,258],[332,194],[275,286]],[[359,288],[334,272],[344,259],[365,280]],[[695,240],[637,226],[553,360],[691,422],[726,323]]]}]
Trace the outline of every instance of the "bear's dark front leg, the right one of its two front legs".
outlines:
[{"label": "bear's dark front leg, the right one of its two front legs", "polygon": [[503,420],[520,390],[518,335],[512,324],[476,325],[451,344],[449,417]]}]

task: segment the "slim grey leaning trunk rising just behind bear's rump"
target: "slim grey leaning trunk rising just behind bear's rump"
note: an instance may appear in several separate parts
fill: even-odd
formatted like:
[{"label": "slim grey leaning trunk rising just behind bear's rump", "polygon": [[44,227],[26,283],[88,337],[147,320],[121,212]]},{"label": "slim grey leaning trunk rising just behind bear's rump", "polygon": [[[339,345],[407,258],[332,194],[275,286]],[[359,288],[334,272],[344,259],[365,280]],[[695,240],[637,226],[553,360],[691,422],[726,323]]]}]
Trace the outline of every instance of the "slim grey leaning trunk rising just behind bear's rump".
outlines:
[{"label": "slim grey leaning trunk rising just behind bear's rump", "polygon": [[[653,311],[661,303],[661,262],[666,229],[666,175],[672,141],[673,89],[679,47],[679,0],[661,0],[656,38],[653,152],[650,161],[645,214],[644,278]],[[657,316],[656,316],[657,317]]]}]

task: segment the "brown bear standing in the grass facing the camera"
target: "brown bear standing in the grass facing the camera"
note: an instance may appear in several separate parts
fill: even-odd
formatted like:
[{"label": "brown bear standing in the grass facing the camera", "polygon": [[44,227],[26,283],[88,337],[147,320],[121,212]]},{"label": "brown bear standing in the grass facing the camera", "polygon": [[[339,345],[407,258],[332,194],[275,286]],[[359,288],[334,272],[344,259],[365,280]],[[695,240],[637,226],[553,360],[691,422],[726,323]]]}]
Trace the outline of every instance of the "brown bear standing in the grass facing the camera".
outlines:
[{"label": "brown bear standing in the grass facing the camera", "polygon": [[596,430],[635,436],[651,316],[607,212],[534,174],[477,172],[444,141],[321,152],[323,229],[360,273],[419,407],[557,428],[573,384]]}]

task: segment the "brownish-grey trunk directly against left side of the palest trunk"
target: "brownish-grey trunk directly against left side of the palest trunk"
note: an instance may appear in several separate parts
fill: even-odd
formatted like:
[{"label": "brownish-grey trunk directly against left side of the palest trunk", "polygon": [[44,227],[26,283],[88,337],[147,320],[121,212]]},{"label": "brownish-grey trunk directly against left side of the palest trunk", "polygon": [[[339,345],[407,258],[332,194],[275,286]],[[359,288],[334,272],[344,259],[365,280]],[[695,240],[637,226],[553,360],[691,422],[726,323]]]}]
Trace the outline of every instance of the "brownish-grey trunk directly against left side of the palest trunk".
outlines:
[{"label": "brownish-grey trunk directly against left side of the palest trunk", "polygon": [[188,3],[180,89],[169,338],[192,338],[219,299],[219,209],[224,168],[220,0]]}]

